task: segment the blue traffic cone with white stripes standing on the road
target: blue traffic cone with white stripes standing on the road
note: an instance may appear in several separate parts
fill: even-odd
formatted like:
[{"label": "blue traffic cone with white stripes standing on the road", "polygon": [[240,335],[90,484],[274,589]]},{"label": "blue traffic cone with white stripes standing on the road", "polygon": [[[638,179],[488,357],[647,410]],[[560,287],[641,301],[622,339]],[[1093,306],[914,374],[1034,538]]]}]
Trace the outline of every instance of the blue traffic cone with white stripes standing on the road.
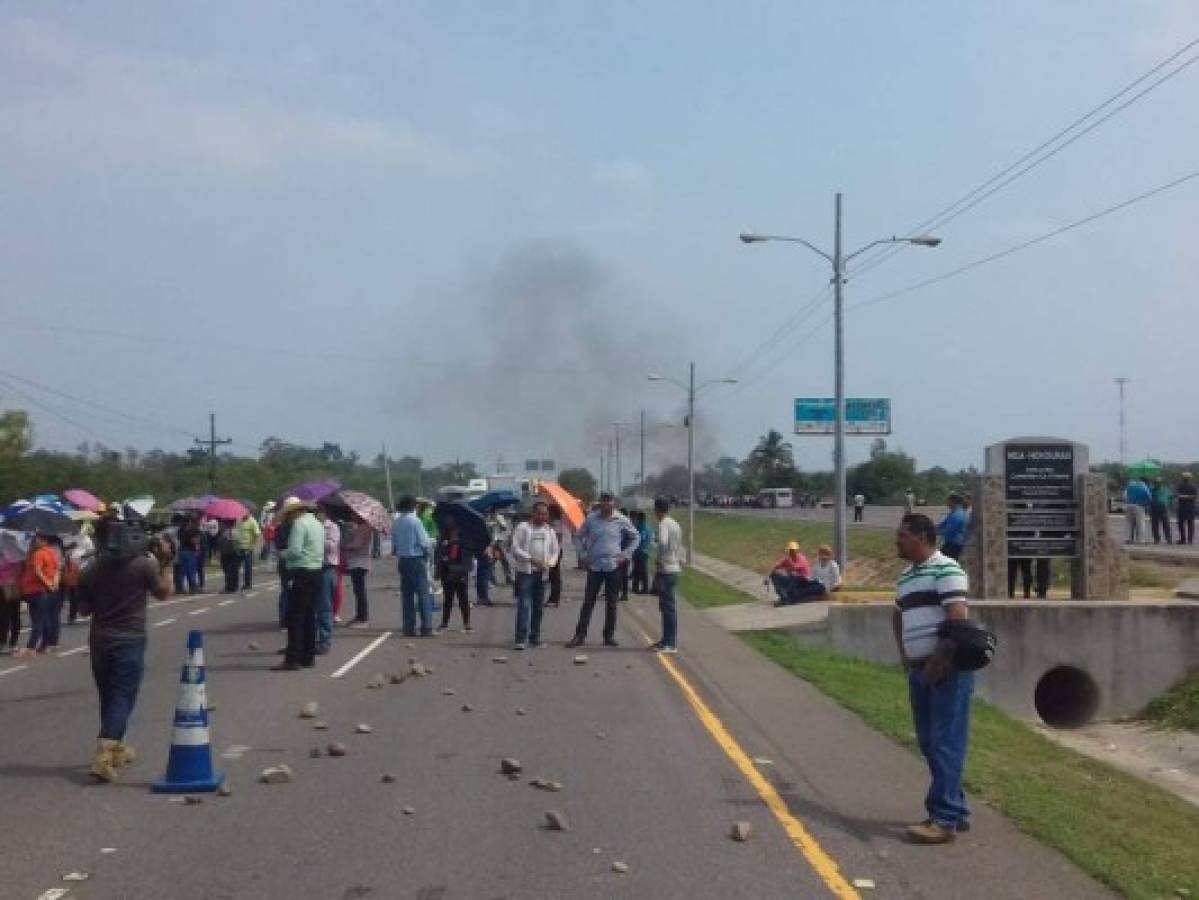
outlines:
[{"label": "blue traffic cone with white stripes standing on the road", "polygon": [[204,633],[188,632],[187,663],[180,676],[167,774],[155,781],[151,790],[156,793],[215,791],[224,781],[224,773],[212,767],[206,688]]}]

